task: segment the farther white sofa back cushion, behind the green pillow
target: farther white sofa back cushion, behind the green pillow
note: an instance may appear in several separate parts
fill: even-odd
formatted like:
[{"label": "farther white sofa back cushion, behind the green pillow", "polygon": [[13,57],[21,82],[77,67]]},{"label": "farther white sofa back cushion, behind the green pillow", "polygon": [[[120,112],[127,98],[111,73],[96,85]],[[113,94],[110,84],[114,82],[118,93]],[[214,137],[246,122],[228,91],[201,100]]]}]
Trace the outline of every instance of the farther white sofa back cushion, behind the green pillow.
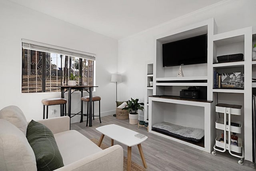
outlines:
[{"label": "farther white sofa back cushion, behind the green pillow", "polygon": [[5,119],[18,127],[25,136],[27,132],[28,123],[21,109],[17,106],[11,105],[0,110],[0,119]]}]

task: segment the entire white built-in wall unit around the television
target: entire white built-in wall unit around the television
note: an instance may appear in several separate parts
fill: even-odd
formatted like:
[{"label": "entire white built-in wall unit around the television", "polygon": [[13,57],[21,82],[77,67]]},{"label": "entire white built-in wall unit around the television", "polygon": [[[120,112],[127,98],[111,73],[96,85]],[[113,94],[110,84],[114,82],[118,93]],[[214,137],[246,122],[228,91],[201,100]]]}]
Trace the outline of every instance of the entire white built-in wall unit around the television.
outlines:
[{"label": "entire white built-in wall unit around the television", "polygon": [[[208,59],[206,64],[182,66],[184,77],[176,77],[179,66],[163,67],[162,44],[202,34],[208,36]],[[254,36],[253,41],[256,42],[256,36]],[[254,77],[256,78],[256,61],[252,61],[253,41],[252,27],[217,34],[217,25],[213,18],[156,36],[156,58],[152,64],[154,82],[152,95],[178,96],[181,89],[188,86],[201,86],[207,89],[207,102],[188,102],[182,99],[164,99],[160,97],[148,98],[147,89],[145,102],[148,103],[148,107],[144,113],[144,120],[145,117],[148,117],[149,132],[210,153],[215,143],[215,121],[218,119],[215,105],[217,103],[242,105],[242,114],[234,119],[245,125],[239,138],[244,145],[245,160],[252,161],[251,97],[252,87],[256,87],[256,83],[252,83],[254,70]],[[238,53],[244,54],[243,61],[225,63],[218,63],[217,61],[217,56]],[[244,73],[244,89],[214,89],[214,71],[219,73]],[[151,130],[152,125],[162,121],[204,129],[203,147]]]}]

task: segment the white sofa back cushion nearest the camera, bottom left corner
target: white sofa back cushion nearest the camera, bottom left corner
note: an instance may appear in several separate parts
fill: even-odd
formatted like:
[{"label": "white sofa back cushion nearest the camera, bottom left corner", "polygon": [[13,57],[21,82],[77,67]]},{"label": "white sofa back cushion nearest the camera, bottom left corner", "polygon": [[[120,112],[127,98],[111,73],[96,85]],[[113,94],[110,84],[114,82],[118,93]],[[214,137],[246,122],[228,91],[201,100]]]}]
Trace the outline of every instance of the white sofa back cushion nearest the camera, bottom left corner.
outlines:
[{"label": "white sofa back cushion nearest the camera, bottom left corner", "polygon": [[5,119],[0,119],[0,171],[36,171],[36,157],[26,136]]}]

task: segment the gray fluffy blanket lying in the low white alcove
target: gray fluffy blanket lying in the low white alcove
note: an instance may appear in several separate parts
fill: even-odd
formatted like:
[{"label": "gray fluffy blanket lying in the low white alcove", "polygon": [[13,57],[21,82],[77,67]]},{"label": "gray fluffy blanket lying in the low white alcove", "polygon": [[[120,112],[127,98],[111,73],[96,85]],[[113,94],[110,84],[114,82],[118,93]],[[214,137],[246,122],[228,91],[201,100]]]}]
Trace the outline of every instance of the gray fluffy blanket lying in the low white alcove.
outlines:
[{"label": "gray fluffy blanket lying in the low white alcove", "polygon": [[152,127],[163,129],[170,133],[192,139],[202,139],[204,137],[204,129],[184,127],[181,125],[175,125],[168,122],[156,123]]}]

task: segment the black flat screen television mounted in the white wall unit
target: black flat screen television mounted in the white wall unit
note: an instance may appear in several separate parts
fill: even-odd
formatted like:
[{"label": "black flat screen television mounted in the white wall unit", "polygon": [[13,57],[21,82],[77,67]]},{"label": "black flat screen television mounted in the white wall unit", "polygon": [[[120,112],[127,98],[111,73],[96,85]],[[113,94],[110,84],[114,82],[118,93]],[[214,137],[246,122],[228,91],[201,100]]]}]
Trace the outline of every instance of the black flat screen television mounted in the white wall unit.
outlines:
[{"label": "black flat screen television mounted in the white wall unit", "polygon": [[162,45],[163,67],[207,63],[207,34]]}]

